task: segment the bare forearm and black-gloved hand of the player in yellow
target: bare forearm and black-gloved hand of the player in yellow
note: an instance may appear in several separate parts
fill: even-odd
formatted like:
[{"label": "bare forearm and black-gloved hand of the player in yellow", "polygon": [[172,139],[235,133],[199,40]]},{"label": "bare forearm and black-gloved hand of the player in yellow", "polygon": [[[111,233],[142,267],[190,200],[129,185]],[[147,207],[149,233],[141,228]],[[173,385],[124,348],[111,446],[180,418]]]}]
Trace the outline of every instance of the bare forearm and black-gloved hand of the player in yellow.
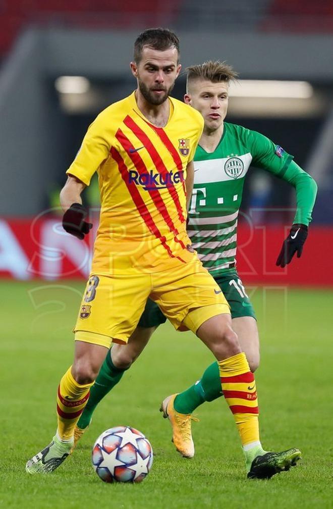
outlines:
[{"label": "bare forearm and black-gloved hand of the player in yellow", "polygon": [[70,175],[63,189],[60,191],[60,204],[65,212],[63,228],[66,232],[82,240],[91,228],[92,223],[84,219],[88,211],[82,205],[81,192],[85,184],[76,177]]}]

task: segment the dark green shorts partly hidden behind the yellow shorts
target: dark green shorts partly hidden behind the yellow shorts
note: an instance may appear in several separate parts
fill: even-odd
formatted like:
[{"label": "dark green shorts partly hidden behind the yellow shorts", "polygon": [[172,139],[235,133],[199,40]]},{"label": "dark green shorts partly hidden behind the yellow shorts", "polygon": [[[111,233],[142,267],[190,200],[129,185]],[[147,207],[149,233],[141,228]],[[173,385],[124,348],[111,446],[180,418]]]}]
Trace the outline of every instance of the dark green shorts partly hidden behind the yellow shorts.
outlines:
[{"label": "dark green shorts partly hidden behind the yellow shorts", "polygon": [[[214,278],[224,293],[230,309],[231,318],[253,317],[256,319],[253,306],[241,282],[236,269],[228,269],[225,274]],[[157,327],[166,321],[159,306],[148,299],[139,320],[139,327]]]}]

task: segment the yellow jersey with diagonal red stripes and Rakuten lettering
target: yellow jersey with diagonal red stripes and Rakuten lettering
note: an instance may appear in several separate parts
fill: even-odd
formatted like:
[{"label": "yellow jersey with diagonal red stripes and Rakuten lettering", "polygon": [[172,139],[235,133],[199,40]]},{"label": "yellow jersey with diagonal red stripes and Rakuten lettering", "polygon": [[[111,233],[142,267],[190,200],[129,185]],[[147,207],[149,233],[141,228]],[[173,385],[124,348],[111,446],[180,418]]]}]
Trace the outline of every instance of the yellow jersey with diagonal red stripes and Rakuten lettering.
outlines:
[{"label": "yellow jersey with diagonal red stripes and Rakuten lettering", "polygon": [[100,224],[92,272],[157,272],[193,259],[186,249],[186,166],[203,119],[173,98],[165,127],[150,124],[135,93],[111,104],[89,126],[67,173],[89,185],[98,173]]}]

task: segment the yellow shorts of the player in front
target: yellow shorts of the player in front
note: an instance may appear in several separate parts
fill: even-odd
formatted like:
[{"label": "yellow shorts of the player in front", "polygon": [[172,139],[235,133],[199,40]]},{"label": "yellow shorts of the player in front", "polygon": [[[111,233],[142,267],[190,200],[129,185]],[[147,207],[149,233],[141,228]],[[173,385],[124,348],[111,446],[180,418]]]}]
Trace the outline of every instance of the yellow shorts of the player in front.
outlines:
[{"label": "yellow shorts of the player in front", "polygon": [[194,333],[206,320],[230,313],[221,289],[201,262],[175,270],[89,277],[74,327],[75,340],[109,348],[127,343],[147,298],[160,306],[175,329]]}]

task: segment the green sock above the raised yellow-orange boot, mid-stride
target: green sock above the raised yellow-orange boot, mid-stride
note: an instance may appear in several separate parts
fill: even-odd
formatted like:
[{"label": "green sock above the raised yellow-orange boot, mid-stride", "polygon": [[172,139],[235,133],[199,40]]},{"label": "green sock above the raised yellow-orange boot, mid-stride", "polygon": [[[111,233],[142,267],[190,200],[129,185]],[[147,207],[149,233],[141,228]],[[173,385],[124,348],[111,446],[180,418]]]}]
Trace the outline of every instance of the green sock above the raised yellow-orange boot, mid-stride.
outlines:
[{"label": "green sock above the raised yellow-orange boot, mid-stride", "polygon": [[219,365],[213,362],[198,382],[176,395],[173,407],[176,412],[189,414],[205,401],[214,401],[221,396]]}]

